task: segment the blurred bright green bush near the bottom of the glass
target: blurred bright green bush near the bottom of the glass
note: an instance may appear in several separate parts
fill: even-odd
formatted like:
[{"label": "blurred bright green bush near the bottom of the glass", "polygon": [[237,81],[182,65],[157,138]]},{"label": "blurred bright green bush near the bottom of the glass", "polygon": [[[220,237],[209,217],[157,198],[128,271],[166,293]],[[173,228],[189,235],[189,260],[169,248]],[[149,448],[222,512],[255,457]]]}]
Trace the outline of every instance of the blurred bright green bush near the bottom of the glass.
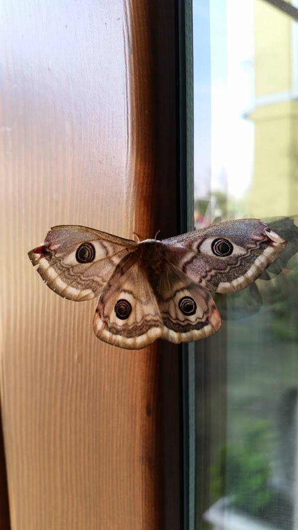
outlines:
[{"label": "blurred bright green bush near the bottom of the glass", "polygon": [[212,490],[217,497],[229,495],[233,505],[257,515],[271,499],[269,423],[252,420],[242,425],[242,443],[222,447],[212,469]]}]

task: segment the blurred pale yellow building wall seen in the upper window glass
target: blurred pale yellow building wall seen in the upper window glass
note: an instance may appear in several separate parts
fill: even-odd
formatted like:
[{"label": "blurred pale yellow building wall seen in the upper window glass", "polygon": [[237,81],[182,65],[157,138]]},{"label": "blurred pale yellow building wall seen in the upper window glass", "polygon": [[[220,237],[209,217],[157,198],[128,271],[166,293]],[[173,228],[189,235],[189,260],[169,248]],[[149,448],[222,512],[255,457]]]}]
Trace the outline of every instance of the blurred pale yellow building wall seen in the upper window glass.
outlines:
[{"label": "blurred pale yellow building wall seen in the upper window glass", "polygon": [[289,16],[255,0],[256,108],[249,114],[255,123],[253,217],[298,214],[298,102],[291,96],[292,31]]}]

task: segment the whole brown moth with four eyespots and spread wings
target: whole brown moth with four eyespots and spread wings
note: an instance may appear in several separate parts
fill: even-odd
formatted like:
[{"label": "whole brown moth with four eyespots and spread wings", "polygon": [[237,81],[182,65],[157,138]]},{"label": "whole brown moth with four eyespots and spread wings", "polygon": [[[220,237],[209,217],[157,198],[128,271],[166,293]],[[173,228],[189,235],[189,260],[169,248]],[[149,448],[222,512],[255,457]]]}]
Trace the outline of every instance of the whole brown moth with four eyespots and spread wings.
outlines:
[{"label": "whole brown moth with four eyespots and spread wings", "polygon": [[215,333],[221,317],[209,291],[244,289],[285,246],[267,223],[242,219],[140,242],[54,226],[28,255],[60,296],[98,297],[93,330],[99,339],[140,349],[159,337],[179,343]]}]

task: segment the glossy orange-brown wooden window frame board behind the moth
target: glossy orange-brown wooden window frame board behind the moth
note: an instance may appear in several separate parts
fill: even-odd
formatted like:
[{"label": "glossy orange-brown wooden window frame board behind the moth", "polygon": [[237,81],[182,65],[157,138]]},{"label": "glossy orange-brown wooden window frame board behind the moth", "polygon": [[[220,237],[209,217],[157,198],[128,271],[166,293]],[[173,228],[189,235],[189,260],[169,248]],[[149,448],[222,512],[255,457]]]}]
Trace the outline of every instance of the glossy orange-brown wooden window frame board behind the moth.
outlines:
[{"label": "glossy orange-brown wooden window frame board behind the moth", "polygon": [[57,224],[154,237],[152,14],[142,0],[12,0],[1,11],[1,407],[11,528],[158,529],[156,347],[99,341],[96,302],[60,298],[27,256]]}]

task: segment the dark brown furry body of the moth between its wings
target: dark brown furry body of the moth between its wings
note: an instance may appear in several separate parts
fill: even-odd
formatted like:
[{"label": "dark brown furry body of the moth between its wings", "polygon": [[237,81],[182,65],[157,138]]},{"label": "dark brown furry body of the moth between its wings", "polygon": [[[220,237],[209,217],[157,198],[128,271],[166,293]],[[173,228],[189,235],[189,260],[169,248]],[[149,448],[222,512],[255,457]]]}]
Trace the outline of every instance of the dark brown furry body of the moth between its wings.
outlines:
[{"label": "dark brown furry body of the moth between its wings", "polygon": [[139,252],[142,267],[156,292],[165,262],[166,247],[159,240],[145,239],[139,243]]}]

